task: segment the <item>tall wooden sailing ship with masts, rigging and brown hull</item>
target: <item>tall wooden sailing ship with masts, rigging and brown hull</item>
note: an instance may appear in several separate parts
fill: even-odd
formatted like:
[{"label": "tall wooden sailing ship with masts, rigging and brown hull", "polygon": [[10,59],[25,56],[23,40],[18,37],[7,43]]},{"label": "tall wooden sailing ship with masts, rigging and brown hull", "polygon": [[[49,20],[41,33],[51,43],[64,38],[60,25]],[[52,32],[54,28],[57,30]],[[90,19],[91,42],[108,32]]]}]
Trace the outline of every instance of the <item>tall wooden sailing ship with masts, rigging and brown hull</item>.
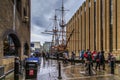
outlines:
[{"label": "tall wooden sailing ship with masts, rigging and brown hull", "polygon": [[[57,19],[56,11],[61,13],[60,19]],[[65,10],[64,2],[62,0],[62,7],[60,9],[55,9],[55,16],[54,19],[52,19],[54,22],[52,30],[45,30],[44,32],[45,34],[52,35],[51,53],[63,53],[64,51],[67,51],[67,44],[74,32],[74,30],[72,30],[72,32],[66,32],[65,11],[68,10]],[[70,34],[67,38],[66,33]]]}]

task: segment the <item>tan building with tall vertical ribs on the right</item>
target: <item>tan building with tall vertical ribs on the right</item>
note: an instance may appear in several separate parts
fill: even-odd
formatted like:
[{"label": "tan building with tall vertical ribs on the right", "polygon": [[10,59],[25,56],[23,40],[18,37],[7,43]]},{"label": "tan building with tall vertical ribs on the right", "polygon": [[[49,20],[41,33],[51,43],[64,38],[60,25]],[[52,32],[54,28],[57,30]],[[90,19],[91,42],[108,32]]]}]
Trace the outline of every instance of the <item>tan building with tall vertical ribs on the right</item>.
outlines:
[{"label": "tan building with tall vertical ribs on the right", "polygon": [[67,23],[67,31],[75,30],[68,50],[77,55],[79,50],[104,50],[120,56],[119,4],[120,0],[86,0]]}]

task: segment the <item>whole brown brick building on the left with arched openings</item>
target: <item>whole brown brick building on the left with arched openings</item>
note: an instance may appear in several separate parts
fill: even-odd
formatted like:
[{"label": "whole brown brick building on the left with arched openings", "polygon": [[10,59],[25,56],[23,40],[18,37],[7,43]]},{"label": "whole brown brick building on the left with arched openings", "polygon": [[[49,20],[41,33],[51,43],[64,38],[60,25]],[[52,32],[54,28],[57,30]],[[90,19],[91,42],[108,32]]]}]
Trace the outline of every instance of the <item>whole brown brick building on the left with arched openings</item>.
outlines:
[{"label": "whole brown brick building on the left with arched openings", "polygon": [[0,0],[0,66],[5,73],[30,53],[30,0]]}]

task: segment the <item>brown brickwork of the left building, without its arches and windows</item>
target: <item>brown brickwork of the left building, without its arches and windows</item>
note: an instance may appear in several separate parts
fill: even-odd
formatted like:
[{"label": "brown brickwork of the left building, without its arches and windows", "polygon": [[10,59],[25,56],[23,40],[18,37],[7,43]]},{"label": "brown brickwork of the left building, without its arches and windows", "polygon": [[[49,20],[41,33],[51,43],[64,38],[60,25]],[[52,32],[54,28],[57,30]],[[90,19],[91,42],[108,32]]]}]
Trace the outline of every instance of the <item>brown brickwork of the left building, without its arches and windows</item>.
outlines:
[{"label": "brown brickwork of the left building, without its arches and windows", "polygon": [[[20,41],[21,47],[19,48],[19,54],[21,57],[23,54],[24,44],[27,42],[28,46],[30,46],[30,7],[27,12],[27,16],[29,17],[29,21],[27,23],[23,23],[24,13],[23,8],[25,8],[25,2],[28,0],[22,0],[21,13],[16,10],[16,16],[14,21],[13,16],[13,2],[12,0],[0,0],[0,65],[2,65],[3,56],[3,39],[6,37],[6,34],[15,34],[16,37]],[[27,8],[26,8],[27,9]],[[15,22],[15,30],[13,30],[13,22]],[[30,53],[30,51],[29,51]]]}]

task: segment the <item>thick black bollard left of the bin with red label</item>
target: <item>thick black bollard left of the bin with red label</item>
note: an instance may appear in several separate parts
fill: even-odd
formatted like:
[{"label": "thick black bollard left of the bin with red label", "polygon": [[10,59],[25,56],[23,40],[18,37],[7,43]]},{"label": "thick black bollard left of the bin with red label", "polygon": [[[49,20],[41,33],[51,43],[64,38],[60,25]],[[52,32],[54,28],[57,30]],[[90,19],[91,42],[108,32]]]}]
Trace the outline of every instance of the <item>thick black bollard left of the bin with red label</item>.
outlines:
[{"label": "thick black bollard left of the bin with red label", "polygon": [[15,58],[14,62],[14,80],[19,80],[19,58]]}]

